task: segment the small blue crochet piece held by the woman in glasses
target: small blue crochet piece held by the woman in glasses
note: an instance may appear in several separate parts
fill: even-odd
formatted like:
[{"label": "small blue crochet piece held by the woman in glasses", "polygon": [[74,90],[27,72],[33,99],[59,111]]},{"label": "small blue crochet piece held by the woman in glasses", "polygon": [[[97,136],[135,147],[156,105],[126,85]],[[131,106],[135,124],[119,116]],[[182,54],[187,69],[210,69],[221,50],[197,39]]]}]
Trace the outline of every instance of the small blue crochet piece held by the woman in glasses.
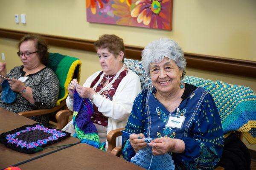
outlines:
[{"label": "small blue crochet piece held by the woman in glasses", "polygon": [[14,102],[18,94],[17,92],[12,91],[8,80],[6,79],[3,80],[2,89],[3,89],[3,93],[2,93],[1,100],[7,104],[11,104],[12,102]]}]

